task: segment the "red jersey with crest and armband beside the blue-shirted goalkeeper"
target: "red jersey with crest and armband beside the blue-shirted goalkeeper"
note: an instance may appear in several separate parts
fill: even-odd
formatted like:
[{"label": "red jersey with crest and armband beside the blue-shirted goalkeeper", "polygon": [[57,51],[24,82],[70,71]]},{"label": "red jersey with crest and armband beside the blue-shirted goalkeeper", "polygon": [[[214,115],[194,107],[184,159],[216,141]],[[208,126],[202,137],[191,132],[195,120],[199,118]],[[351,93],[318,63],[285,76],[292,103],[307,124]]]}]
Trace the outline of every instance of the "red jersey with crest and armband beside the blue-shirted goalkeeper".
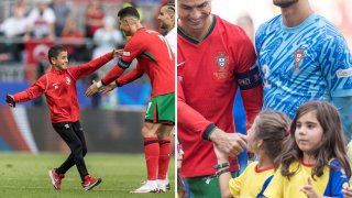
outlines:
[{"label": "red jersey with crest and armband beside the blue-shirted goalkeeper", "polygon": [[[185,155],[182,175],[196,177],[216,173],[213,143],[202,134],[210,124],[234,133],[233,102],[238,87],[248,123],[262,108],[263,90],[255,66],[255,51],[243,30],[213,15],[206,37],[198,42],[182,29],[177,35],[178,139]],[[231,170],[239,169],[230,158]]]}]

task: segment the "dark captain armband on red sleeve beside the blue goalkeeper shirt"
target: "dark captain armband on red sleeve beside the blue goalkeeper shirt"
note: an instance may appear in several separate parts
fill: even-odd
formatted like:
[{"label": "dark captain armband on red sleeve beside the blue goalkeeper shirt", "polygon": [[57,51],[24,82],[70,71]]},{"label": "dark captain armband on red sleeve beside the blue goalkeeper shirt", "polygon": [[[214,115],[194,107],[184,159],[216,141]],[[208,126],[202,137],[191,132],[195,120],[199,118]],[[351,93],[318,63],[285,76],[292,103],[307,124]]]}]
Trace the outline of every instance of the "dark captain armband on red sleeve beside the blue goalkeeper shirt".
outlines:
[{"label": "dark captain armband on red sleeve beside the blue goalkeeper shirt", "polygon": [[234,76],[238,79],[238,84],[241,90],[248,90],[262,85],[262,79],[260,70],[255,65],[253,65],[250,70],[244,73],[235,73]]}]

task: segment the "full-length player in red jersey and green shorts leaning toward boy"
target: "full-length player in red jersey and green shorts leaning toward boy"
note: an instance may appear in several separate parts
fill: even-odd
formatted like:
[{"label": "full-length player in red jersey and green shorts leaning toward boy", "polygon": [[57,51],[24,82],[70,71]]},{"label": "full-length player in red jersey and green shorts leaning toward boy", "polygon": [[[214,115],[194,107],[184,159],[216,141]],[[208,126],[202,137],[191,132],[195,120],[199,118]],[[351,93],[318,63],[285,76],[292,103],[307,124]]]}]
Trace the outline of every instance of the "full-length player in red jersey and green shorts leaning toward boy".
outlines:
[{"label": "full-length player in red jersey and green shorts leaning toward boy", "polygon": [[[142,128],[147,182],[131,193],[165,193],[166,173],[172,154],[169,134],[175,123],[174,54],[163,35],[142,26],[135,8],[124,8],[119,11],[118,16],[120,29],[131,38],[124,46],[118,65],[101,80],[94,82],[86,95],[91,96],[107,85],[109,90],[123,86],[144,73],[147,74],[152,84],[152,96]],[[119,78],[134,58],[138,59],[136,68]],[[112,82],[113,80],[116,81]]]}]

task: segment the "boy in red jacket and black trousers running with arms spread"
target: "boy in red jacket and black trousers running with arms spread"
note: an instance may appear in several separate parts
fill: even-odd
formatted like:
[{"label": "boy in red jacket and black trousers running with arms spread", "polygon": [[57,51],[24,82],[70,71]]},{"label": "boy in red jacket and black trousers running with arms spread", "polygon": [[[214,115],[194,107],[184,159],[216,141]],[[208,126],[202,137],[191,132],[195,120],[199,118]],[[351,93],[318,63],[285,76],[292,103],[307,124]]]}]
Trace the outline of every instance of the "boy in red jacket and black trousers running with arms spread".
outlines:
[{"label": "boy in red jacket and black trousers running with arms spread", "polygon": [[85,190],[90,190],[101,183],[101,178],[94,178],[88,174],[84,160],[87,154],[87,145],[79,123],[76,81],[102,67],[118,55],[119,53],[113,51],[87,64],[67,67],[66,48],[55,45],[50,48],[47,55],[52,69],[26,90],[15,95],[7,95],[6,101],[10,107],[15,107],[18,102],[32,100],[43,94],[46,96],[53,128],[72,152],[59,167],[48,172],[53,186],[57,190],[62,188],[65,173],[74,165],[79,172],[81,186]]}]

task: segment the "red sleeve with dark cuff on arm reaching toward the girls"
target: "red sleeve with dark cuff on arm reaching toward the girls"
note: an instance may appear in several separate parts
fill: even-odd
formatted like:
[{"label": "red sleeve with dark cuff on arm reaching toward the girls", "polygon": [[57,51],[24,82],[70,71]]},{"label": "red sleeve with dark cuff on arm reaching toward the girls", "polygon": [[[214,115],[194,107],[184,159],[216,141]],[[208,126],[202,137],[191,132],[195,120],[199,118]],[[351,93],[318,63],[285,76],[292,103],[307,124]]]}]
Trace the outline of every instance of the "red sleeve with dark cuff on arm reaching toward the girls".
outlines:
[{"label": "red sleeve with dark cuff on arm reaching toward the girls", "polygon": [[185,101],[185,95],[182,85],[177,84],[177,122],[187,131],[199,135],[199,139],[211,131],[215,124],[201,116],[198,111],[193,109]]}]

